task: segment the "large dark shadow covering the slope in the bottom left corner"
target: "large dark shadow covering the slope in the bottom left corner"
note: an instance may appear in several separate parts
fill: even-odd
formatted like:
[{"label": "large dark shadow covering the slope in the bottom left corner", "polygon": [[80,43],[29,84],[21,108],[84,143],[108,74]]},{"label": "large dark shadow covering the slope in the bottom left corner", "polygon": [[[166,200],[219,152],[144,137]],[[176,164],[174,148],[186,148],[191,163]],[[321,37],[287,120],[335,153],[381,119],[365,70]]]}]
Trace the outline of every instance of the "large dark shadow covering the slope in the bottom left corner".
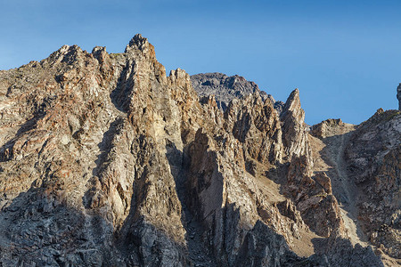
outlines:
[{"label": "large dark shadow covering the slope in the bottom left corner", "polygon": [[0,232],[3,266],[101,266],[115,260],[110,223],[69,206],[61,190],[48,184],[32,186],[4,207]]}]

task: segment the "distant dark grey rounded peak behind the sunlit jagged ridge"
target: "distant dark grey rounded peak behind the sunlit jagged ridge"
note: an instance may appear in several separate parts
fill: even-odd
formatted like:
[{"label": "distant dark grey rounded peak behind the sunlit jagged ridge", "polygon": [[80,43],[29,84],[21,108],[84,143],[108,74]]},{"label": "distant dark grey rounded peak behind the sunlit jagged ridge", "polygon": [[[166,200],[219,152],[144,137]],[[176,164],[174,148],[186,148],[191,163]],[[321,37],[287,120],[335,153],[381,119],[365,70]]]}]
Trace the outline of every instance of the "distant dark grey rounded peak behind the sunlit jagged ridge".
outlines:
[{"label": "distant dark grey rounded peak behind the sunlit jagged ridge", "polygon": [[201,73],[191,76],[193,89],[200,97],[215,95],[219,109],[227,109],[233,99],[241,99],[252,93],[259,93],[262,101],[269,99],[274,104],[274,109],[282,111],[284,103],[274,101],[271,94],[260,91],[258,85],[247,81],[244,77],[235,75],[227,77],[222,73]]}]

